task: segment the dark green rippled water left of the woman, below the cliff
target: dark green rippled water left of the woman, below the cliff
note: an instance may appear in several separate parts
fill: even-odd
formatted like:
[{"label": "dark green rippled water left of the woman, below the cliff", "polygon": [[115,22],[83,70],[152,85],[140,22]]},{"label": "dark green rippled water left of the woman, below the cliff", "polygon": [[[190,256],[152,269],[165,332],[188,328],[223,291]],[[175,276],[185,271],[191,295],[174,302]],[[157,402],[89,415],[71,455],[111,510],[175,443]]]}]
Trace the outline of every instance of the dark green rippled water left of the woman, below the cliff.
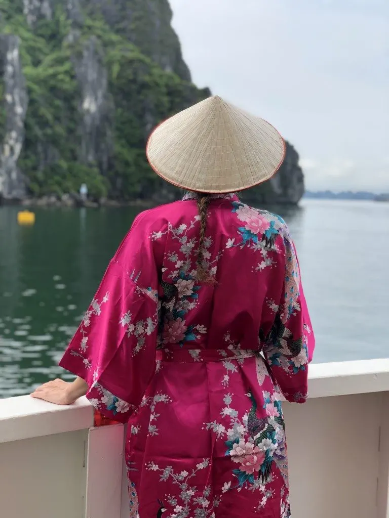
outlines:
[{"label": "dark green rippled water left of the woman, below the cliff", "polygon": [[62,375],[57,363],[136,214],[37,209],[35,225],[20,227],[17,211],[0,208],[0,397]]}]

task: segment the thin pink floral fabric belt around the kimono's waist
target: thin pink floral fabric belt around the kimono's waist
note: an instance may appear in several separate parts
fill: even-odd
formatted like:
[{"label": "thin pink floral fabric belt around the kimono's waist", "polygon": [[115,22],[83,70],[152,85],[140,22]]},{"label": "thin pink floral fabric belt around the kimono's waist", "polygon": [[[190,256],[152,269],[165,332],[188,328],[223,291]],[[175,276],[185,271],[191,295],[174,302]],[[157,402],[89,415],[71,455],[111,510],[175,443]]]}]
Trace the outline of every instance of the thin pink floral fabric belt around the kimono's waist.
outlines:
[{"label": "thin pink floral fabric belt around the kimono's waist", "polygon": [[228,362],[259,356],[259,350],[249,349],[158,349],[156,359],[160,362]]}]

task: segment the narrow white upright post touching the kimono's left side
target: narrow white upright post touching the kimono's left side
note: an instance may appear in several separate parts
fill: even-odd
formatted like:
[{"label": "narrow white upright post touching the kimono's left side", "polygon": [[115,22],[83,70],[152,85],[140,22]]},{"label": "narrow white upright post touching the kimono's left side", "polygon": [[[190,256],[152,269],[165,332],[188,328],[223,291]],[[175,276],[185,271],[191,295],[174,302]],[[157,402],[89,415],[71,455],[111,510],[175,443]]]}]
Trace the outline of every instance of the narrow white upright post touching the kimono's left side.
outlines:
[{"label": "narrow white upright post touching the kimono's left side", "polygon": [[120,518],[123,445],[122,424],[89,430],[86,518]]}]

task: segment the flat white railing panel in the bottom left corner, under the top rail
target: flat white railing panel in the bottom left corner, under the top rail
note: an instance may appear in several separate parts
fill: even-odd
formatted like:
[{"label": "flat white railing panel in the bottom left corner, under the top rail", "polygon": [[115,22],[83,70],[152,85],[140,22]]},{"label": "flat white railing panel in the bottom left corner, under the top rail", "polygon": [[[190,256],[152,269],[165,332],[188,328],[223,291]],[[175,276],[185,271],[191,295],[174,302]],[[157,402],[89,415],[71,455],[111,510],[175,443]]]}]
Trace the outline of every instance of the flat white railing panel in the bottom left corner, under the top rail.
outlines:
[{"label": "flat white railing panel in the bottom left corner, under the top rail", "polygon": [[0,444],[2,518],[84,518],[87,430]]}]

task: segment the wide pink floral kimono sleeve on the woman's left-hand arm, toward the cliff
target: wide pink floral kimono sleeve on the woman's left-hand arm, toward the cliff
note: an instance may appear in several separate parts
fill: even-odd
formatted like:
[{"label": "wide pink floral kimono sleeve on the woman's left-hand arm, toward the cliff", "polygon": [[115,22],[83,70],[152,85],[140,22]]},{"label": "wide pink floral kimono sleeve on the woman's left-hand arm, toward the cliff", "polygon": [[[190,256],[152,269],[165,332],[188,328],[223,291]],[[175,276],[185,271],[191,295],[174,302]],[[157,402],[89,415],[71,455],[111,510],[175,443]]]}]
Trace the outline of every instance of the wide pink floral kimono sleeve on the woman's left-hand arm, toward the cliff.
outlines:
[{"label": "wide pink floral kimono sleeve on the woman's left-hand arm, toward the cliff", "polygon": [[121,244],[60,362],[88,383],[92,405],[120,422],[140,404],[156,368],[157,272],[150,241],[139,238],[133,228]]}]

